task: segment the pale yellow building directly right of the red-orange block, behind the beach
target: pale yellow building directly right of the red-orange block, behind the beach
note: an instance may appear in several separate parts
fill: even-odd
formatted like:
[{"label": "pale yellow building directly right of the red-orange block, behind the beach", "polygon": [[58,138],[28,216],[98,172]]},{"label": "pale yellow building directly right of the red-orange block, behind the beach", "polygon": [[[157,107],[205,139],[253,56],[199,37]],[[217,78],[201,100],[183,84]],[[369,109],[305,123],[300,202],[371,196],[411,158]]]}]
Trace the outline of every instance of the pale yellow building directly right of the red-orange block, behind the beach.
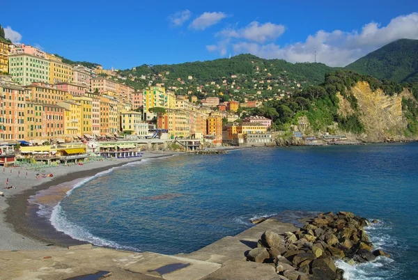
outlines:
[{"label": "pale yellow building directly right of the red-orange block, behind the beach", "polygon": [[66,141],[79,139],[82,137],[82,123],[80,115],[82,114],[82,105],[75,100],[65,100],[57,103],[65,109],[64,112],[64,136]]}]

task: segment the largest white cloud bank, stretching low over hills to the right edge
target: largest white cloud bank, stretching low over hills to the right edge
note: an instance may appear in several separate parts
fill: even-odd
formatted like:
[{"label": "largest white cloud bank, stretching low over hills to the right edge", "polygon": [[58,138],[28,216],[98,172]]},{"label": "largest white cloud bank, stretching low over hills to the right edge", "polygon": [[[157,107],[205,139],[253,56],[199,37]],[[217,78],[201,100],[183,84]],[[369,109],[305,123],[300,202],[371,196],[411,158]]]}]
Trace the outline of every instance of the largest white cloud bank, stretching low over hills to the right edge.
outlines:
[{"label": "largest white cloud bank, stretching low over hills to the right edge", "polygon": [[[304,42],[283,47],[274,42],[263,44],[262,40],[251,40],[249,36],[231,35],[229,38],[239,39],[229,44],[235,54],[251,53],[265,59],[285,59],[293,63],[314,62],[316,49],[318,62],[344,66],[394,40],[418,39],[418,13],[395,17],[387,26],[371,22],[364,25],[361,31],[320,30],[315,35],[309,35]],[[265,38],[268,40],[268,37]]]}]

